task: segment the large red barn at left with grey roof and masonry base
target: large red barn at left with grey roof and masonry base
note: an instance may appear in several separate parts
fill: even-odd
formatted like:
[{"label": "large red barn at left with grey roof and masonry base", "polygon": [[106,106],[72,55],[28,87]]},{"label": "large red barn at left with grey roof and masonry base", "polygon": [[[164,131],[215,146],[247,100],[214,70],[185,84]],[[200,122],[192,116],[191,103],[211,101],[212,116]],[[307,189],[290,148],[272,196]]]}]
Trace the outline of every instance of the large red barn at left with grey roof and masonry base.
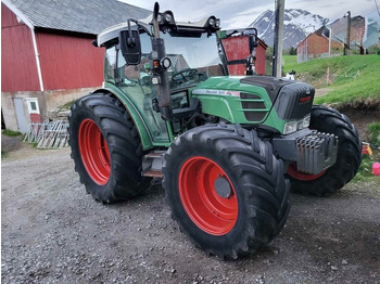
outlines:
[{"label": "large red barn at left with grey roof and masonry base", "polygon": [[151,11],[117,0],[2,0],[1,114],[25,132],[48,111],[103,81],[104,50],[91,41],[104,28]]}]

